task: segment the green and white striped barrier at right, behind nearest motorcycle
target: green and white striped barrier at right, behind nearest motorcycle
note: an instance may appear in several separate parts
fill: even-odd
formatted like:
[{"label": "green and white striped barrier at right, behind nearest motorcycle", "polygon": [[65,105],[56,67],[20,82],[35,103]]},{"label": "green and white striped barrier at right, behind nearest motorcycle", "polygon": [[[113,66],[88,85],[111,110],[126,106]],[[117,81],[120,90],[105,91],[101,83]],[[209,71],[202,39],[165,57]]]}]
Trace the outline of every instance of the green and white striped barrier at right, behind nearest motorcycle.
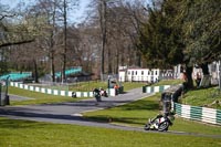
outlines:
[{"label": "green and white striped barrier at right, behind nearest motorcycle", "polygon": [[221,125],[221,111],[208,107],[198,107],[190,105],[182,105],[175,103],[173,109],[176,114],[180,117],[199,120],[204,123],[210,123],[214,125]]}]

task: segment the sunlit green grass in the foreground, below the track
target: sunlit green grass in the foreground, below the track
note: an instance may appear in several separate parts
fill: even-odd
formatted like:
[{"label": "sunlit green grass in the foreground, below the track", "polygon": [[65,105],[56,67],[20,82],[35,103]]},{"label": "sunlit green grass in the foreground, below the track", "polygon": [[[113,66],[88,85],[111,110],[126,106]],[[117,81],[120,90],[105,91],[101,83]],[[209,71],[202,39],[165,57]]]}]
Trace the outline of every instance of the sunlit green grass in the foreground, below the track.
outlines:
[{"label": "sunlit green grass in the foreground, below the track", "polygon": [[[220,138],[0,118],[1,147],[218,147]],[[181,144],[180,144],[181,143]]]}]

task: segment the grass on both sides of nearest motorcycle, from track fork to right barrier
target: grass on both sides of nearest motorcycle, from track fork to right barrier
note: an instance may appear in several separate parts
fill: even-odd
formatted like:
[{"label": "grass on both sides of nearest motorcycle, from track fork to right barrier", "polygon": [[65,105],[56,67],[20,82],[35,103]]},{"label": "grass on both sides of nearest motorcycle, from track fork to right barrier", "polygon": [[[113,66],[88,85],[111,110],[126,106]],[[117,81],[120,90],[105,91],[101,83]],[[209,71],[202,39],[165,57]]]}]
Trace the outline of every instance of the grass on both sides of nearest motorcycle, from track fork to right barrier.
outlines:
[{"label": "grass on both sides of nearest motorcycle, from track fork to right barrier", "polygon": [[[114,124],[144,127],[148,118],[152,118],[160,113],[159,97],[160,95],[158,94],[123,106],[88,112],[85,113],[84,116],[90,119],[102,122],[108,122],[112,118],[112,123]],[[169,129],[197,134],[221,134],[221,127],[204,125],[182,118],[176,118],[173,126]]]}]

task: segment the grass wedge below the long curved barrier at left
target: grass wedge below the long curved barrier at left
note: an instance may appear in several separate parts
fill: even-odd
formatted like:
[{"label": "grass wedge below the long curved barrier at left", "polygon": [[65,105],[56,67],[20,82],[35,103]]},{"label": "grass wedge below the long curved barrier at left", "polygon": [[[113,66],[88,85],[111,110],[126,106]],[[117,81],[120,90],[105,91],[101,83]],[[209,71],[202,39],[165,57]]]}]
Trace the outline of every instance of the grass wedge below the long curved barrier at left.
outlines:
[{"label": "grass wedge below the long curved barrier at left", "polygon": [[13,95],[30,97],[30,99],[27,101],[10,101],[10,105],[49,104],[49,103],[61,103],[61,102],[75,102],[82,99],[82,98],[72,98],[69,96],[55,96],[50,94],[31,92],[12,86],[9,86],[9,93]]}]

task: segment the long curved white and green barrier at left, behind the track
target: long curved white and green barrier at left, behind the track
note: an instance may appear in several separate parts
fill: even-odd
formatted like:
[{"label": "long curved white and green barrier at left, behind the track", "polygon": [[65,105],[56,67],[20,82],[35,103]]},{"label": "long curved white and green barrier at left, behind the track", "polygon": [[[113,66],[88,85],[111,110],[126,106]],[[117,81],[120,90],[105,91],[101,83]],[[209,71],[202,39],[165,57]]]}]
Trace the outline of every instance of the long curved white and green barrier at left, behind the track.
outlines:
[{"label": "long curved white and green barrier at left, behind the track", "polygon": [[[59,96],[72,96],[71,91],[62,91],[62,90],[52,90],[52,88],[45,88],[45,87],[38,87],[38,86],[31,86],[22,83],[17,82],[10,82],[10,86],[33,91],[33,92],[40,92],[44,94],[52,94],[52,95],[59,95]],[[93,92],[75,92],[76,97],[93,97]]]}]

